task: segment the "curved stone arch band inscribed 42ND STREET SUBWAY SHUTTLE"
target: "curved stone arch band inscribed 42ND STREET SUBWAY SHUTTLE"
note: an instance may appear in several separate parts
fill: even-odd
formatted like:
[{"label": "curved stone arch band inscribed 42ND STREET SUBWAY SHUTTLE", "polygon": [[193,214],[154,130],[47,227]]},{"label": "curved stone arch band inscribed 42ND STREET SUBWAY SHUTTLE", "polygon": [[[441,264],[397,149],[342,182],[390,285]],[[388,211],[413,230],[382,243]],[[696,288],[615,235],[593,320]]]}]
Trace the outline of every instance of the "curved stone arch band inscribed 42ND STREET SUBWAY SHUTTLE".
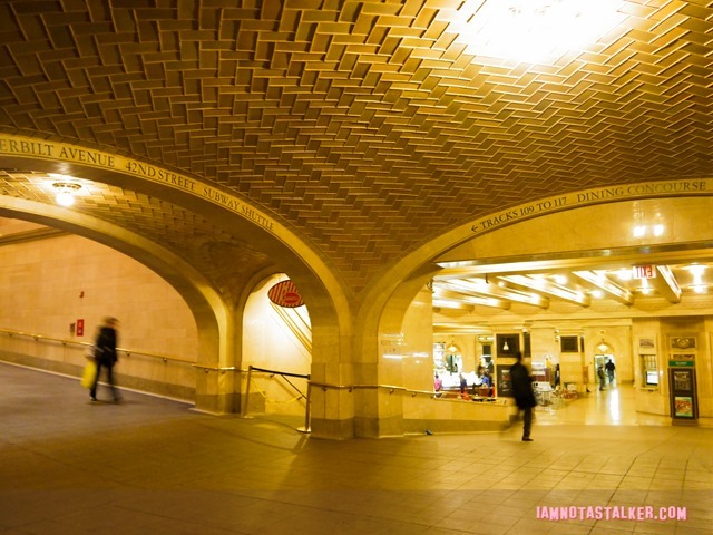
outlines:
[{"label": "curved stone arch band inscribed 42ND STREET SUBWAY SHUTTLE", "polygon": [[320,315],[333,318],[330,322],[340,330],[350,330],[353,299],[336,271],[300,235],[234,192],[116,152],[39,137],[0,134],[0,163],[6,168],[26,169],[29,166],[32,172],[77,175],[189,207],[240,233],[270,257],[280,259],[276,271],[299,280],[305,298],[325,312]]}]

